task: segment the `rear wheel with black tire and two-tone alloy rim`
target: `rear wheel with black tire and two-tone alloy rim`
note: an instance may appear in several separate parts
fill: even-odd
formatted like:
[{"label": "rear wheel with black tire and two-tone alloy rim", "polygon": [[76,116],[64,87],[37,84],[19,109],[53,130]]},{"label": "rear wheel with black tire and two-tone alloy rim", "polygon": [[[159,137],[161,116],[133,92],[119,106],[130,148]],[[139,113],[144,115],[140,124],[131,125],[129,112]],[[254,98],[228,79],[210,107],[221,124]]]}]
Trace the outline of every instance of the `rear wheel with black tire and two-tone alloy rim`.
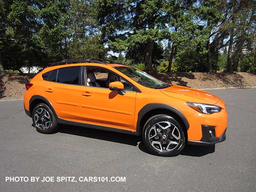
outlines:
[{"label": "rear wheel with black tire and two-tone alloy rim", "polygon": [[[41,114],[39,113],[40,111],[41,111]],[[43,114],[46,114],[45,117],[40,118],[41,116],[43,116]],[[33,124],[35,128],[37,128],[37,131],[39,133],[51,134],[51,133],[55,133],[57,130],[58,125],[57,125],[55,115],[51,110],[51,108],[45,103],[37,104],[37,106],[34,108],[32,112],[32,119],[33,119]],[[41,119],[44,119],[44,120],[41,120]]]}]

